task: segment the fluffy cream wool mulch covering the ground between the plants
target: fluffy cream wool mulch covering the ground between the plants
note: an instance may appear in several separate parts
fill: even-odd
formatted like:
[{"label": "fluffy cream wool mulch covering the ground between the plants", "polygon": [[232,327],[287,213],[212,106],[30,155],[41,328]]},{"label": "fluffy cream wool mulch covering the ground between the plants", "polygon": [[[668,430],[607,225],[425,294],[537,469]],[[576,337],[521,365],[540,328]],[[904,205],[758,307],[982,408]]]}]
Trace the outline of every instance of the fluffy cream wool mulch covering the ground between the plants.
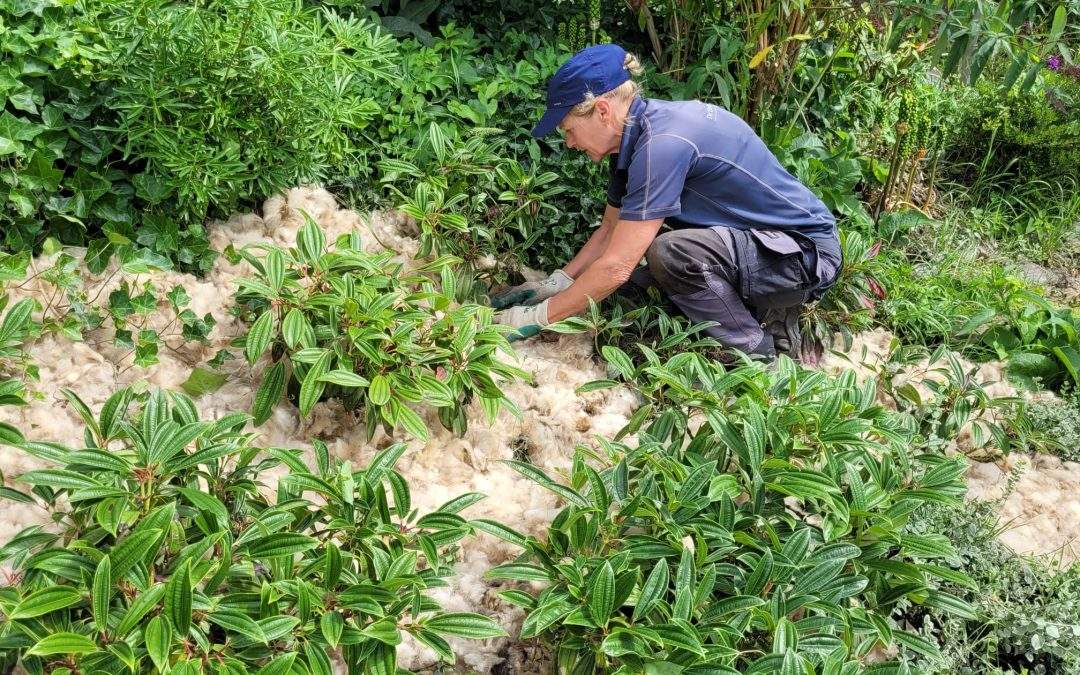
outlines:
[{"label": "fluffy cream wool mulch covering the ground between the plants", "polygon": [[[238,247],[271,242],[292,245],[303,222],[301,211],[326,229],[330,241],[355,228],[362,233],[365,248],[389,248],[405,265],[411,262],[418,249],[416,232],[402,216],[376,213],[361,217],[340,208],[333,195],[318,188],[292,189],[268,200],[261,215],[238,215],[227,222],[212,225],[211,240],[218,249],[229,244]],[[39,259],[36,265],[40,269],[48,266],[49,260]],[[130,354],[111,345],[107,328],[87,335],[83,342],[72,343],[56,336],[42,338],[30,347],[31,357],[41,372],[40,381],[32,383],[38,397],[28,406],[0,407],[0,420],[14,424],[29,438],[78,446],[82,423],[60,395],[60,389],[70,388],[94,410],[111,392],[127,384],[145,382],[178,389],[193,366],[227,348],[233,337],[243,333],[244,326],[229,310],[238,276],[249,272],[246,264],[231,265],[219,257],[203,279],[172,272],[151,275],[159,291],[175,284],[187,288],[191,309],[199,315],[211,313],[217,325],[210,345],[172,341],[168,349],[161,351],[161,363],[150,368],[132,367]],[[144,280],[146,278],[144,275]],[[87,274],[86,283],[95,293],[104,286],[103,297],[107,297],[104,294],[119,281],[110,280],[106,271],[98,276]],[[22,295],[40,296],[42,293],[43,289],[32,283],[16,291]],[[854,367],[861,376],[870,376],[875,373],[874,364],[887,357],[890,341],[891,336],[883,332],[858,336],[847,357],[834,354],[824,361],[823,367],[833,370]],[[527,458],[554,476],[564,475],[573,447],[578,444],[595,447],[596,435],[615,434],[627,421],[636,402],[624,388],[584,395],[575,392],[584,382],[605,377],[603,366],[593,356],[588,336],[561,335],[553,341],[529,340],[518,343],[517,352],[519,365],[532,375],[531,382],[516,382],[505,388],[510,399],[521,407],[521,419],[502,413],[496,423],[488,426],[476,407],[470,410],[468,432],[459,438],[443,430],[434,415],[428,414],[432,437],[427,443],[404,436],[389,437],[381,432],[368,442],[363,424],[334,402],[316,405],[308,419],[300,419],[295,407],[283,403],[257,430],[261,434],[259,442],[268,446],[309,448],[312,438],[321,438],[337,456],[364,465],[380,449],[403,441],[409,449],[397,468],[409,481],[414,505],[421,513],[463,492],[477,491],[487,495],[487,499],[463,515],[495,518],[528,535],[543,536],[546,524],[561,504],[552,494],[522,478],[501,460]],[[858,357],[852,357],[853,354]],[[203,419],[249,409],[257,376],[264,365],[259,363],[251,368],[240,359],[228,362],[225,372],[229,378],[225,386],[195,401]],[[39,465],[35,458],[0,446],[0,472],[5,478]],[[997,497],[1007,483],[1009,468],[1008,463],[974,463],[969,475],[972,496]],[[275,476],[266,476],[268,490],[272,490],[274,484]],[[1071,542],[1080,534],[1080,467],[1063,464],[1049,457],[1036,458],[1017,489],[1004,502],[1003,514],[1005,519],[1012,521],[1012,526],[1005,529],[1002,539],[1018,551],[1064,551],[1065,555],[1075,558]],[[46,522],[48,514],[40,509],[5,503],[0,517],[0,541],[6,541],[26,526]],[[483,578],[486,569],[513,559],[516,553],[514,546],[488,535],[465,540],[449,588],[436,590],[433,595],[447,610],[491,616],[511,635],[516,634],[523,612],[503,603],[497,595],[500,586]],[[546,660],[536,644],[515,644],[510,638],[450,642],[459,654],[457,670],[460,672],[539,673]],[[434,656],[416,643],[402,645],[399,653],[403,667],[423,671],[435,666]]]}]

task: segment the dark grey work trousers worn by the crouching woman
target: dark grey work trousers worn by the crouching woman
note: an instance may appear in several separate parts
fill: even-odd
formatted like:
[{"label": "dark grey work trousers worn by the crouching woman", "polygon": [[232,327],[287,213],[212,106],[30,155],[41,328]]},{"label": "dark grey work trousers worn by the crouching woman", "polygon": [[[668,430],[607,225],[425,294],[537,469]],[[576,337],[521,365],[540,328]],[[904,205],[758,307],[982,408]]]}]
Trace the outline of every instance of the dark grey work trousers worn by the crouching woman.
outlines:
[{"label": "dark grey work trousers worn by the crouching woman", "polygon": [[770,354],[772,336],[755,312],[802,305],[822,280],[832,283],[839,259],[813,257],[821,259],[810,271],[804,246],[780,231],[685,228],[658,235],[631,282],[659,286],[691,321],[717,322],[704,333],[725,347]]}]

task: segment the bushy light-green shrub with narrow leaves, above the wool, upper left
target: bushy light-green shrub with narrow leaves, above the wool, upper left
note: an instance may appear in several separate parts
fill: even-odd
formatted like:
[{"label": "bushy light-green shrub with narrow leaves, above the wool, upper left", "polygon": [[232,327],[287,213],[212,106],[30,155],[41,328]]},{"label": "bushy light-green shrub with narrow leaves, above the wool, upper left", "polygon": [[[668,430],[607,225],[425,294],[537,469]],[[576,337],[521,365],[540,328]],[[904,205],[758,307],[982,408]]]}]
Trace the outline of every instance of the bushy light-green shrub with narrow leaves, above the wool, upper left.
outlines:
[{"label": "bushy light-green shrub with narrow leaves, above the wool, upper left", "polygon": [[288,0],[118,5],[108,70],[139,197],[185,221],[348,174],[393,40]]}]

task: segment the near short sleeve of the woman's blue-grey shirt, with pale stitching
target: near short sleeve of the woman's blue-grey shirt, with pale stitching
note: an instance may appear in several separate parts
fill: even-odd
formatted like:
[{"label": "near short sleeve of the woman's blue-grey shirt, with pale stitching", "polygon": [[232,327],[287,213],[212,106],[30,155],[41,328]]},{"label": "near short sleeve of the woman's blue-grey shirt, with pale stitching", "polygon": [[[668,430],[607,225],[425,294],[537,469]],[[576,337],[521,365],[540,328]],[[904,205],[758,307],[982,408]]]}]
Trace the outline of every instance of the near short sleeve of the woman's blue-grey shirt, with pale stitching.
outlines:
[{"label": "near short sleeve of the woman's blue-grey shirt, with pale stitching", "polygon": [[688,141],[671,136],[649,138],[630,160],[619,218],[653,220],[683,213],[683,188],[694,161],[697,151]]}]

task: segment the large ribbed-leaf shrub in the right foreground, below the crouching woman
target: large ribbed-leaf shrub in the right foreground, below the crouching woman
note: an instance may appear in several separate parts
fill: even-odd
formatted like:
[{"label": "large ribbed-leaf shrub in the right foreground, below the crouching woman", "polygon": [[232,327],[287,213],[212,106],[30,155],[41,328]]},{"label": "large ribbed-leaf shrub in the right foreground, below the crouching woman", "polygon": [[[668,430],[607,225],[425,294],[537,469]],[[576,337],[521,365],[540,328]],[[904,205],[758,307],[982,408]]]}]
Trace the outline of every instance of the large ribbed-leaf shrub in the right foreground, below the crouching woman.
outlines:
[{"label": "large ribbed-leaf shrub in the right foreground, below the crouching woman", "polygon": [[975,617],[939,588],[963,575],[926,562],[954,554],[945,538],[903,531],[958,501],[964,462],[909,447],[873,381],[606,356],[648,402],[617,436],[636,447],[582,449],[569,484],[515,462],[568,505],[546,541],[488,528],[525,549],[490,577],[545,584],[503,597],[565,672],[863,672],[875,645],[937,657],[890,619],[905,598]]}]

